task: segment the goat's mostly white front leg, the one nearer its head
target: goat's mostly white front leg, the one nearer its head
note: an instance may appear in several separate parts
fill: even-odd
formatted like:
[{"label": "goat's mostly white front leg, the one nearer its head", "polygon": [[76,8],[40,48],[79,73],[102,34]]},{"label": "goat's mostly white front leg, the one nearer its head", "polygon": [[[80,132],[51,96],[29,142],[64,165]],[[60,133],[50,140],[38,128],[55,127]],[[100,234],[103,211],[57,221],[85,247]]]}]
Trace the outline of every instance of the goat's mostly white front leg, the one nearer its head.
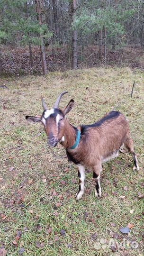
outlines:
[{"label": "goat's mostly white front leg, the one nearer its head", "polygon": [[84,167],[82,165],[77,165],[77,167],[78,167],[78,176],[79,176],[79,191],[76,194],[76,200],[80,200],[84,193],[85,172],[84,172]]}]

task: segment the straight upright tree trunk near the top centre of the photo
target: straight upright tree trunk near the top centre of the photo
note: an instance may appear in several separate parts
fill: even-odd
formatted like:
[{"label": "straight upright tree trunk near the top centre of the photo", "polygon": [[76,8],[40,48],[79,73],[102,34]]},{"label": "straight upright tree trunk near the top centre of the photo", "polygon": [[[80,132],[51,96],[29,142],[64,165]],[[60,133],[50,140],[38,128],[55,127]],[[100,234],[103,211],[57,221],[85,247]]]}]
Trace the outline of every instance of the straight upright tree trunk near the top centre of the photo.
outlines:
[{"label": "straight upright tree trunk near the top centre of the photo", "polygon": [[[76,10],[76,0],[71,0],[71,15],[72,21]],[[72,35],[72,68],[77,69],[77,30],[73,31]]]}]

